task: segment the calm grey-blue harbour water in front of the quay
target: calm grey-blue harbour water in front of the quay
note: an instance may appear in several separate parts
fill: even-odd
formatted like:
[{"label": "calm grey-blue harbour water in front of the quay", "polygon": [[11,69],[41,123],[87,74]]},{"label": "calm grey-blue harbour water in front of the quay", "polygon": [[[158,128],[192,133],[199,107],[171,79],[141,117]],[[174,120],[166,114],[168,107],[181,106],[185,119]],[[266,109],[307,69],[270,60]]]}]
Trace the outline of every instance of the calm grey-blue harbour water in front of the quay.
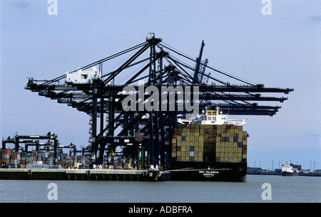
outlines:
[{"label": "calm grey-blue harbour water in front of the quay", "polygon": [[[49,183],[57,185],[54,202],[213,203],[274,202],[320,203],[321,177],[247,176],[242,182],[136,181],[0,181],[0,202],[53,202]],[[264,183],[270,184],[265,194]],[[271,200],[263,200],[262,195]]]}]

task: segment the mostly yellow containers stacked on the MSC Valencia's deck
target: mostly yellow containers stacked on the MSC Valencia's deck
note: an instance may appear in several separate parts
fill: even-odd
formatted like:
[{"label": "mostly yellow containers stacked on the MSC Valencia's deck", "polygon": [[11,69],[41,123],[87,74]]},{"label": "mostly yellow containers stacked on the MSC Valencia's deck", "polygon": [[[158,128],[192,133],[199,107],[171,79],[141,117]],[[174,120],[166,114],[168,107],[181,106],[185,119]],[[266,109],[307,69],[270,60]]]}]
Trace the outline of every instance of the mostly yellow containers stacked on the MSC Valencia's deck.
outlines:
[{"label": "mostly yellow containers stacked on the MSC Valencia's deck", "polygon": [[176,162],[240,163],[247,159],[248,134],[237,125],[178,125],[172,139]]}]

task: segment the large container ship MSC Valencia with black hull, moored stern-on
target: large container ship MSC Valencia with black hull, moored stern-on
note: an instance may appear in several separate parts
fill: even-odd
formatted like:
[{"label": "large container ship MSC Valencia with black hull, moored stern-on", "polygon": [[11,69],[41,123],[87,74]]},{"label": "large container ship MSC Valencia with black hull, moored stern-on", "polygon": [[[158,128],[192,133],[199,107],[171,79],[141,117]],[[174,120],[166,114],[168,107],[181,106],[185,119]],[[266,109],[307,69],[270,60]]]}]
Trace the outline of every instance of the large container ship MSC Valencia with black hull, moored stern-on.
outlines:
[{"label": "large container ship MSC Valencia with black hull, moored stern-on", "polygon": [[172,180],[245,181],[247,120],[228,120],[218,107],[195,120],[178,119],[172,139]]}]

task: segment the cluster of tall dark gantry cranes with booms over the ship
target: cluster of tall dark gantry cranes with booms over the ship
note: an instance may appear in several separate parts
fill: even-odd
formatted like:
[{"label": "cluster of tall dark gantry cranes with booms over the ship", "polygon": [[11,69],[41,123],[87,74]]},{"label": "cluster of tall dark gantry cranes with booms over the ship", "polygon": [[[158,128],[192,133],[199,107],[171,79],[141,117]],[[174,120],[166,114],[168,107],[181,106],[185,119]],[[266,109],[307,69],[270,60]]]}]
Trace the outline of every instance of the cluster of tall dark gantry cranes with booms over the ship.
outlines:
[{"label": "cluster of tall dark gantry cranes with booms over the ship", "polygon": [[[93,162],[102,164],[103,156],[123,148],[123,157],[147,160],[148,164],[167,165],[170,163],[171,138],[177,127],[178,115],[185,116],[188,110],[170,112],[168,110],[123,110],[122,102],[129,95],[136,95],[136,107],[142,105],[139,88],[154,86],[177,88],[178,86],[198,88],[199,110],[213,104],[218,105],[229,115],[275,115],[278,105],[258,105],[260,101],[284,102],[287,97],[263,96],[263,93],[292,92],[291,88],[266,88],[263,84],[250,83],[247,80],[230,75],[208,65],[208,59],[202,60],[202,42],[200,54],[196,60],[163,43],[161,38],[151,36],[146,41],[119,53],[103,58],[77,70],[52,80],[34,80],[29,78],[26,90],[57,100],[90,115],[89,146]],[[103,72],[103,64],[128,55],[116,70]],[[182,60],[183,58],[183,60]],[[195,67],[190,66],[195,64]],[[205,69],[210,73],[205,73]],[[222,75],[237,84],[216,78]],[[138,81],[144,80],[143,85]],[[213,82],[208,84],[208,80]],[[137,84],[138,83],[138,84]],[[131,86],[133,92],[123,91]],[[145,90],[145,89],[144,89]],[[169,94],[169,93],[168,93]],[[143,99],[151,97],[144,92]],[[142,95],[141,95],[142,97]],[[169,96],[168,96],[169,97]],[[166,99],[169,100],[169,98]],[[193,99],[192,99],[193,100]],[[168,101],[167,101],[168,102]],[[162,103],[162,102],[161,102]],[[178,107],[178,94],[175,93],[175,108]],[[166,106],[168,109],[168,106]],[[145,156],[147,151],[148,156]],[[145,166],[141,164],[141,166]]]}]

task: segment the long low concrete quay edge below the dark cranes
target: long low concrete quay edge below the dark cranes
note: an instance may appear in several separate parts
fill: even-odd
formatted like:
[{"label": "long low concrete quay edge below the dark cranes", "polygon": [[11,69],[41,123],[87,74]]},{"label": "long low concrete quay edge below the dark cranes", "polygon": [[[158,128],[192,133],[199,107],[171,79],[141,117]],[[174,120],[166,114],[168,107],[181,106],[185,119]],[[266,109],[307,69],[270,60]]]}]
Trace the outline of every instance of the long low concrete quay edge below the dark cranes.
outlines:
[{"label": "long low concrete quay edge below the dark cranes", "polygon": [[0,180],[168,181],[168,171],[126,169],[0,169]]}]

